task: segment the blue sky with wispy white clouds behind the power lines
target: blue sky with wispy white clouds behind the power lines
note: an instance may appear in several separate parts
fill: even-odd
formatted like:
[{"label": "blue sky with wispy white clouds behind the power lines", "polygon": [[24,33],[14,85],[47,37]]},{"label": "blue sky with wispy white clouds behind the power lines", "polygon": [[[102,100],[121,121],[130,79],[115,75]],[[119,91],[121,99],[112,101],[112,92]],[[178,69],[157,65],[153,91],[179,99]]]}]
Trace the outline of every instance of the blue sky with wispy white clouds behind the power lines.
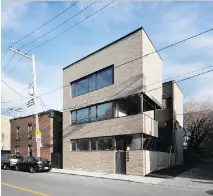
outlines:
[{"label": "blue sky with wispy white clouds behind the power lines", "polygon": [[[2,53],[12,42],[23,37],[44,22],[51,19],[74,2],[2,2]],[[14,45],[19,48],[54,28],[92,2],[81,2],[38,30],[27,39]],[[85,12],[67,22],[42,39],[27,46],[27,51],[60,33],[76,22],[92,14],[108,2],[97,2]],[[62,68],[104,45],[143,26],[157,49],[213,27],[213,2],[115,2],[92,16],[72,30],[34,50],[36,57],[38,94],[62,86]],[[30,54],[32,54],[30,53]],[[11,52],[5,56],[2,66],[9,60]],[[163,59],[163,77],[171,78],[186,72],[213,65],[213,31],[193,40],[160,52]],[[22,61],[11,74],[7,72],[18,61],[15,56],[5,69],[2,78],[18,92],[27,96],[27,86],[31,82],[30,61]],[[208,69],[207,69],[208,70]],[[207,71],[206,70],[206,71]],[[199,72],[196,72],[199,73]],[[196,74],[195,73],[195,74]],[[187,75],[190,76],[190,75]],[[204,101],[213,96],[210,83],[213,73],[180,83],[186,100]],[[178,78],[181,79],[181,78]],[[23,105],[20,96],[2,84],[2,108]],[[48,108],[62,108],[62,90],[42,97]],[[40,110],[42,107],[40,107]],[[24,114],[32,112],[26,109]]]}]

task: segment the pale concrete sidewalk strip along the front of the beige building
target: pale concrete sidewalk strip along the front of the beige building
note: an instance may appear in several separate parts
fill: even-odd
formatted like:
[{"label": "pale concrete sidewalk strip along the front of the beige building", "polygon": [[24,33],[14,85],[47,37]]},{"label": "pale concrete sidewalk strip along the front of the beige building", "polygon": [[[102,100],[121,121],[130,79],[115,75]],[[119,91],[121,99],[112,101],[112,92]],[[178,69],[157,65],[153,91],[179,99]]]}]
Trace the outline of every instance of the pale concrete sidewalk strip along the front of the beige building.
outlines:
[{"label": "pale concrete sidewalk strip along the front of the beige building", "polygon": [[132,175],[122,175],[122,174],[107,174],[107,173],[89,172],[89,171],[81,171],[81,170],[55,169],[55,168],[53,168],[51,172],[68,174],[68,175],[104,178],[104,179],[111,179],[111,180],[122,180],[122,181],[137,182],[137,183],[148,183],[148,184],[159,184],[160,182],[164,180],[161,178],[153,178],[153,177],[132,176]]}]

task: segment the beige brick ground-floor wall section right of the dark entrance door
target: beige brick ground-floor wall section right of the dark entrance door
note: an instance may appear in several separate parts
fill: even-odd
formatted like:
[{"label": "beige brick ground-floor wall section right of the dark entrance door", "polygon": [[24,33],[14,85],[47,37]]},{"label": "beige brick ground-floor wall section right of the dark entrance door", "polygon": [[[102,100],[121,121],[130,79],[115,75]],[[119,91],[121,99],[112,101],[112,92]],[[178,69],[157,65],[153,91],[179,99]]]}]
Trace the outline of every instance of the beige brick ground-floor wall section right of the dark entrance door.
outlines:
[{"label": "beige brick ground-floor wall section right of the dark entrance door", "polygon": [[127,151],[126,158],[126,174],[143,176],[143,151]]}]

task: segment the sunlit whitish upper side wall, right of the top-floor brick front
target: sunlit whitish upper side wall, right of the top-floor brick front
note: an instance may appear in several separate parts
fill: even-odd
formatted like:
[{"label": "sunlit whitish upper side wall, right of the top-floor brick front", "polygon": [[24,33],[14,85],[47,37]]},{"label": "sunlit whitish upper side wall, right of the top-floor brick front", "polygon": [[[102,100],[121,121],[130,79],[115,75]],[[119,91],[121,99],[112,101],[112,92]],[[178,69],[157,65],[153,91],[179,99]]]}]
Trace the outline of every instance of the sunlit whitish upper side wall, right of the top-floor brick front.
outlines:
[{"label": "sunlit whitish upper side wall, right of the top-floor brick front", "polygon": [[[162,105],[162,60],[148,38],[145,31],[142,31],[142,63],[143,63],[143,83],[145,94]],[[155,52],[153,54],[150,54]],[[148,55],[150,54],[150,55]],[[147,55],[147,56],[145,56]],[[156,90],[153,90],[156,89]]]}]

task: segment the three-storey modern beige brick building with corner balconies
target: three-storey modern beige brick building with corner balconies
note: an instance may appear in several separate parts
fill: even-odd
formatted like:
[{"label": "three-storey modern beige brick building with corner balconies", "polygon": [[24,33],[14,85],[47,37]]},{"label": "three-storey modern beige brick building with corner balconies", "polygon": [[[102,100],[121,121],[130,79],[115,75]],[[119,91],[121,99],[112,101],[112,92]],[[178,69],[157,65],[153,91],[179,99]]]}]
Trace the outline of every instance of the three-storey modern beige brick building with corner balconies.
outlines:
[{"label": "three-storey modern beige brick building with corner balconies", "polygon": [[[150,154],[158,139],[155,114],[163,107],[162,59],[155,51],[139,28],[63,69],[64,168],[153,170],[151,159],[159,156]],[[173,154],[164,152],[162,159],[166,167]]]}]

